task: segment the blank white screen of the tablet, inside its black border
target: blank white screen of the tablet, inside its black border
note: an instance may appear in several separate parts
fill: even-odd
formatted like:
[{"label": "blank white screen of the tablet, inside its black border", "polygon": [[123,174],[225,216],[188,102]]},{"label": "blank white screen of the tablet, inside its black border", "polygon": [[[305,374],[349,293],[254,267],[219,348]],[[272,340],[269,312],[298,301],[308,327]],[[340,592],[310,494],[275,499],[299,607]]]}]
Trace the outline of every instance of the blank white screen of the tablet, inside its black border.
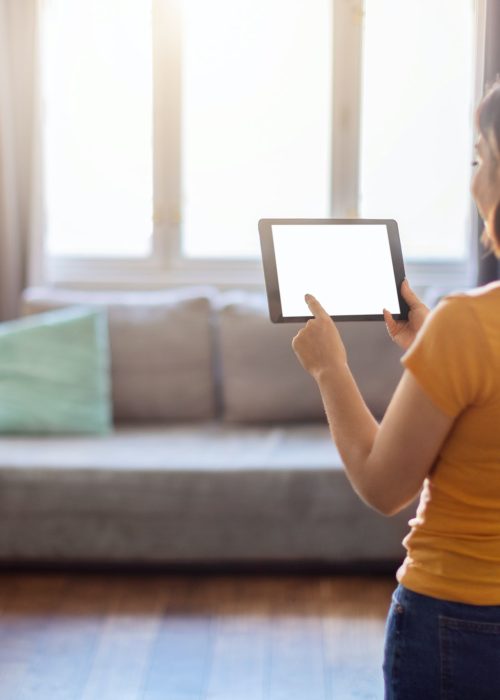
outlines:
[{"label": "blank white screen of the tablet, inside its black border", "polygon": [[330,316],[401,313],[384,224],[274,224],[283,316],[311,316],[312,294]]}]

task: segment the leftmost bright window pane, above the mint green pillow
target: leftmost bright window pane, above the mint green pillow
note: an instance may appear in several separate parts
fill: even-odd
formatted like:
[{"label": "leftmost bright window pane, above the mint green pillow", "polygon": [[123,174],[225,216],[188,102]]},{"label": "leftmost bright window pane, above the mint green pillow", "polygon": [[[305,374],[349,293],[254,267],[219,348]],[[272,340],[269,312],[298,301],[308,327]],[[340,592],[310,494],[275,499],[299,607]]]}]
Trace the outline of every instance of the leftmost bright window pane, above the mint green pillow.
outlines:
[{"label": "leftmost bright window pane, above the mint green pillow", "polygon": [[45,0],[44,183],[51,256],[152,250],[152,32],[143,0]]}]

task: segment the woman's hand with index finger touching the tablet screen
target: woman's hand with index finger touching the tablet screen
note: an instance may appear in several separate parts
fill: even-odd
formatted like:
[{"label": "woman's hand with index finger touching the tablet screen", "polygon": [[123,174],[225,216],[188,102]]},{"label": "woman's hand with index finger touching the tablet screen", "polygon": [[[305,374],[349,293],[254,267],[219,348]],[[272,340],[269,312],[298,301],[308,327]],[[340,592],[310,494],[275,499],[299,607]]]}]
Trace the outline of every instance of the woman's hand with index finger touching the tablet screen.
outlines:
[{"label": "woman's hand with index finger touching the tablet screen", "polygon": [[292,347],[302,366],[314,379],[324,370],[347,364],[347,354],[337,326],[319,301],[306,294],[306,303],[314,318],[292,340]]}]

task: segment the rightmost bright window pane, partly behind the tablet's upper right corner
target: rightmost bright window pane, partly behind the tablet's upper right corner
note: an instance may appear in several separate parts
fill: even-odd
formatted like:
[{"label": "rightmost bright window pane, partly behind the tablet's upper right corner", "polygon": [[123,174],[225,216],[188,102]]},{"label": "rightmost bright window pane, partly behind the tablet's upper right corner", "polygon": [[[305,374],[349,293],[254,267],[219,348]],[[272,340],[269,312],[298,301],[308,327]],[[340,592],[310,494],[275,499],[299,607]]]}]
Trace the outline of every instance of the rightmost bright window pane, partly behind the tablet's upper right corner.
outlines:
[{"label": "rightmost bright window pane, partly behind the tablet's upper right corner", "polygon": [[474,27],[469,1],[366,0],[359,209],[398,221],[407,259],[468,254]]}]

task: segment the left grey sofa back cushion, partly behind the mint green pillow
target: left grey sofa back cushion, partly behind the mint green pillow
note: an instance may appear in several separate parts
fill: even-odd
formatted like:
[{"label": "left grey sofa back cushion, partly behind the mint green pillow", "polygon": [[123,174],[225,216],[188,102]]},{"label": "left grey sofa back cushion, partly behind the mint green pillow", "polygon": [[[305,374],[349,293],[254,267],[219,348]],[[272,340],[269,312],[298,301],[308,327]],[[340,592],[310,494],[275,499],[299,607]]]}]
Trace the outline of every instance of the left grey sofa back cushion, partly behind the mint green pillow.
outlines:
[{"label": "left grey sofa back cushion, partly behind the mint green pillow", "polygon": [[70,304],[107,307],[116,421],[214,415],[212,288],[97,292],[31,288],[23,313]]}]

